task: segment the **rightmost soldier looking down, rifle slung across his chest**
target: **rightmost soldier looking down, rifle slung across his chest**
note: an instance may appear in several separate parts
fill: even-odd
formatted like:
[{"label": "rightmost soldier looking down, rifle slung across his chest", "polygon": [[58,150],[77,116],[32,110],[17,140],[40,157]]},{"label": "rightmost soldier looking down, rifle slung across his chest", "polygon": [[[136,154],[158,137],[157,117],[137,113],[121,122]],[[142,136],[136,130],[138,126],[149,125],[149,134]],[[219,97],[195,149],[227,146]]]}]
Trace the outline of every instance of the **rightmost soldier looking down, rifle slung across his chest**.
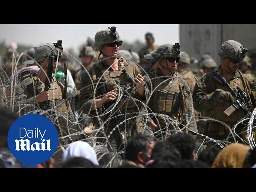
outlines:
[{"label": "rightmost soldier looking down, rifle slung across his chest", "polygon": [[[235,92],[237,92],[238,86],[245,90],[249,98],[246,104],[252,110],[256,106],[256,83],[238,70],[239,62],[244,59],[246,52],[247,49],[239,42],[234,40],[224,42],[218,50],[218,55],[222,58],[222,64],[218,67],[218,70],[207,72],[201,79],[197,79],[193,92],[194,108],[196,110],[204,111],[205,116],[222,121],[230,128],[246,114],[242,108],[228,114],[229,116],[224,113],[232,105],[234,98],[228,88],[220,84],[218,75],[221,74]],[[236,127],[236,133],[240,133],[243,127],[242,124]],[[210,121],[206,123],[204,134],[215,140],[225,140],[230,134],[230,130],[223,124]]]}]

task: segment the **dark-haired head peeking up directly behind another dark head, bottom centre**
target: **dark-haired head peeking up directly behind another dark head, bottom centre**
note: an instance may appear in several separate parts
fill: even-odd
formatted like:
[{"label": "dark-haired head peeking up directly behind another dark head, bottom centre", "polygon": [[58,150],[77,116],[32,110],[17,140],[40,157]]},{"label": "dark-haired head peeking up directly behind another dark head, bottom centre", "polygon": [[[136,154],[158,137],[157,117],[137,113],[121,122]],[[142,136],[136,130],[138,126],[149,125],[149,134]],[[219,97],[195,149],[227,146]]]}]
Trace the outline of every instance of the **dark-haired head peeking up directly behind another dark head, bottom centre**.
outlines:
[{"label": "dark-haired head peeking up directly behind another dark head, bottom centre", "polygon": [[180,152],[172,146],[172,144],[168,141],[159,141],[156,143],[152,150],[151,159],[156,160],[157,158],[161,158],[162,154],[166,151],[170,151],[176,156],[178,159],[181,159]]}]

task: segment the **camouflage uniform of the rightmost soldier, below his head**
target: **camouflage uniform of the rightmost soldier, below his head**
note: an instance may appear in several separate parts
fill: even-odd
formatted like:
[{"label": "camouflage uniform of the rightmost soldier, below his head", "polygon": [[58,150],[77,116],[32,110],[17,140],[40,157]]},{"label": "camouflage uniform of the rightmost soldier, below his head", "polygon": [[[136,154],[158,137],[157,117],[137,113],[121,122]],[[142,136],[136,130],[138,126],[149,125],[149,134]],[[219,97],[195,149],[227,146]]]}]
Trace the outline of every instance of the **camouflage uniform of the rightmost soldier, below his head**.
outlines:
[{"label": "camouflage uniform of the rightmost soldier, below his head", "polygon": [[[204,74],[201,79],[197,80],[193,93],[194,108],[200,112],[204,111],[206,117],[225,122],[232,128],[245,114],[242,108],[233,112],[229,117],[224,114],[224,111],[232,103],[223,102],[220,99],[220,94],[218,93],[220,93],[221,90],[228,91],[228,89],[212,78],[212,76],[217,76],[218,74],[221,74],[220,67],[218,71],[214,70],[208,72]],[[252,101],[252,103],[247,102],[248,108],[252,110],[254,106],[256,106],[256,82],[252,82],[250,77],[246,74],[242,74],[241,76],[238,70],[236,70],[234,77],[230,79],[228,84],[230,84],[234,90],[236,90],[237,86],[240,86],[243,90],[245,90],[246,87]],[[236,132],[239,133],[242,128],[238,127]],[[207,122],[204,130],[205,135],[217,140],[224,140],[227,138],[228,133],[228,128],[218,122]]]}]

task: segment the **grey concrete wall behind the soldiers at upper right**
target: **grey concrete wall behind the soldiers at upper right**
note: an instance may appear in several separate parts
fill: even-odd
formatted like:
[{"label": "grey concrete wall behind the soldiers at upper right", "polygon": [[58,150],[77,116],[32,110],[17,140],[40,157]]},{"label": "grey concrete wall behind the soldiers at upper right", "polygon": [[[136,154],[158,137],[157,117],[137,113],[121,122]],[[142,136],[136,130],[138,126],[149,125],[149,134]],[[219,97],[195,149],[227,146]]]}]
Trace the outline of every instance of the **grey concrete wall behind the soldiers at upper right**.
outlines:
[{"label": "grey concrete wall behind the soldiers at upper right", "polygon": [[219,65],[218,48],[226,40],[256,47],[256,24],[180,24],[180,46],[190,57],[199,59],[208,52]]}]

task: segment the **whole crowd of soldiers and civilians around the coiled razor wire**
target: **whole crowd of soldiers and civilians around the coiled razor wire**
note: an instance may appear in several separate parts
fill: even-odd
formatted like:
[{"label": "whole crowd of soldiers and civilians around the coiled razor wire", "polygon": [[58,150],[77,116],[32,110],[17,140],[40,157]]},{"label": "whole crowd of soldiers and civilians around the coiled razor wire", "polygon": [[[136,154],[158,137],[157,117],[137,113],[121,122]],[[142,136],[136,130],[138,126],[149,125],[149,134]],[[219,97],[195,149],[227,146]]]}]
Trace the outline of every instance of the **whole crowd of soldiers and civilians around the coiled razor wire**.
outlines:
[{"label": "whole crowd of soldiers and civilians around the coiled razor wire", "polygon": [[[152,33],[138,53],[119,50],[116,27],[94,40],[76,64],[62,41],[22,54],[10,44],[0,71],[1,167],[256,167],[249,123],[256,83],[246,47],[223,42],[217,66],[209,54],[190,57],[179,43],[156,45]],[[38,165],[19,162],[7,145],[11,124],[28,113],[49,118],[59,135],[55,154]]]}]

